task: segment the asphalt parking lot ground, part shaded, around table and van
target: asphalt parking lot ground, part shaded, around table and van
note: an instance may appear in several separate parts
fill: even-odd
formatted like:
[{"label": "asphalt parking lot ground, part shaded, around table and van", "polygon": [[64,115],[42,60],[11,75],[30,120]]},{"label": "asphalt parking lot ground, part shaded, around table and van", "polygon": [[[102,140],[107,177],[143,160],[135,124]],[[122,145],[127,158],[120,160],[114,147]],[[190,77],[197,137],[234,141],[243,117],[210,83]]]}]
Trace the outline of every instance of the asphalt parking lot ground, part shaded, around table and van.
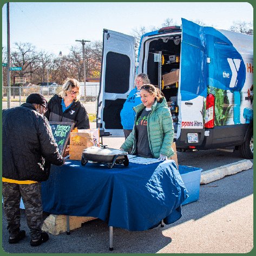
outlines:
[{"label": "asphalt parking lot ground, part shaded, around table and van", "polygon": [[[123,141],[104,137],[103,144],[119,148]],[[179,165],[203,172],[239,160],[239,152],[232,150],[178,152]],[[21,228],[27,237],[19,244],[8,244],[4,213],[2,223],[3,250],[8,253],[109,253],[109,227],[100,219],[86,222],[70,235],[50,234],[50,240],[38,247],[29,245],[24,210]],[[141,232],[114,227],[111,253],[247,253],[252,248],[253,168],[201,185],[199,200],[182,206],[182,217],[174,224]]]}]

